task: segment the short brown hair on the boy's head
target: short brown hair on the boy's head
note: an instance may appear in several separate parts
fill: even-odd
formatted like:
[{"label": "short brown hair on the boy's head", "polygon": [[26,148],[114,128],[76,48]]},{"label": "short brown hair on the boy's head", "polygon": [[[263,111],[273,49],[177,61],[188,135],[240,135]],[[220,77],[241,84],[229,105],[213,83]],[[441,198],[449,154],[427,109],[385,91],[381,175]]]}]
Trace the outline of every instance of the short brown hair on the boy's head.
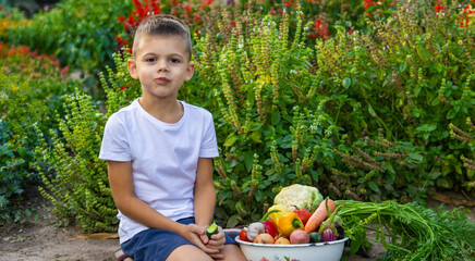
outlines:
[{"label": "short brown hair on the boy's head", "polygon": [[169,14],[156,14],[145,18],[137,27],[134,36],[134,45],[132,52],[135,57],[135,51],[142,36],[169,36],[176,35],[183,37],[188,52],[188,60],[192,59],[192,39],[188,27],[179,18]]}]

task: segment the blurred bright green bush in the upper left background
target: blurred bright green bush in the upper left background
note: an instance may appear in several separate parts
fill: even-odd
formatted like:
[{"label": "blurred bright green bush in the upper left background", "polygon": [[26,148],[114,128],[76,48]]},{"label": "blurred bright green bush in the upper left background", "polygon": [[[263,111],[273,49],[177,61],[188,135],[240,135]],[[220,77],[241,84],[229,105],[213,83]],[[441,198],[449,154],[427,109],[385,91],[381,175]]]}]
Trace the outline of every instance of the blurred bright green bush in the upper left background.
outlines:
[{"label": "blurred bright green bush in the upper left background", "polygon": [[112,65],[114,37],[121,30],[112,21],[131,8],[130,1],[61,1],[34,15],[28,25],[9,28],[8,41],[54,54],[62,66],[94,75]]}]

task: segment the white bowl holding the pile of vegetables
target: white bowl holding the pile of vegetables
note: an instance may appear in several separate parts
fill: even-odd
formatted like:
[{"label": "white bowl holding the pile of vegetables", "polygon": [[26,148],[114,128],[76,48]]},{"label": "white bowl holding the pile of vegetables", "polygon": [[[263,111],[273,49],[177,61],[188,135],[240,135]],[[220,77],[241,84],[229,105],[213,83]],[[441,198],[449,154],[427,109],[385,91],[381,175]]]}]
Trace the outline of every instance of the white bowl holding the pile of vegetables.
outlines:
[{"label": "white bowl holding the pile of vegetables", "polygon": [[339,261],[343,254],[348,237],[329,243],[310,243],[299,245],[272,245],[235,240],[249,261]]}]

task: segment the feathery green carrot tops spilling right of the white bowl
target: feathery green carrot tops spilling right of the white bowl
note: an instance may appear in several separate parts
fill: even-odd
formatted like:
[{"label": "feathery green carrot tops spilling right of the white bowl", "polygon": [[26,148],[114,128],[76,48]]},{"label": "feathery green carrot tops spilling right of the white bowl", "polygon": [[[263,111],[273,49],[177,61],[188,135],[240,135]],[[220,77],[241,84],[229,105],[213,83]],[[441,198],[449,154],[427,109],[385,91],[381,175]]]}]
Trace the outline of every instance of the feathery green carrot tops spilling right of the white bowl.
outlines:
[{"label": "feathery green carrot tops spilling right of the white bowl", "polygon": [[[393,200],[361,202],[338,200],[343,206],[338,214],[351,238],[350,254],[356,253],[367,239],[386,248],[386,260],[473,260],[475,257],[475,222],[467,209],[437,211],[416,202]],[[367,237],[366,229],[376,237]],[[369,234],[368,234],[369,235]]]}]

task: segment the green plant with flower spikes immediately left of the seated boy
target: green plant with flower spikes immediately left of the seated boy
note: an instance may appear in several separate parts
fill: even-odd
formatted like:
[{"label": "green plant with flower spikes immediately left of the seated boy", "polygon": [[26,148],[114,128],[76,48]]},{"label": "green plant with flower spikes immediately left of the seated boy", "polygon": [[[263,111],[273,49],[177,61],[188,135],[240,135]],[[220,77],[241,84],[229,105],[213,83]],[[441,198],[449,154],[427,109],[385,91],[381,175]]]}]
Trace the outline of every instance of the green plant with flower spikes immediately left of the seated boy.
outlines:
[{"label": "green plant with flower spikes immediately left of the seated boy", "polygon": [[50,145],[40,138],[38,153],[53,170],[38,170],[44,183],[40,192],[59,217],[77,222],[83,231],[114,231],[117,209],[106,162],[97,158],[105,116],[78,90],[65,96],[65,107],[64,117],[58,115],[60,133],[50,130]]}]

